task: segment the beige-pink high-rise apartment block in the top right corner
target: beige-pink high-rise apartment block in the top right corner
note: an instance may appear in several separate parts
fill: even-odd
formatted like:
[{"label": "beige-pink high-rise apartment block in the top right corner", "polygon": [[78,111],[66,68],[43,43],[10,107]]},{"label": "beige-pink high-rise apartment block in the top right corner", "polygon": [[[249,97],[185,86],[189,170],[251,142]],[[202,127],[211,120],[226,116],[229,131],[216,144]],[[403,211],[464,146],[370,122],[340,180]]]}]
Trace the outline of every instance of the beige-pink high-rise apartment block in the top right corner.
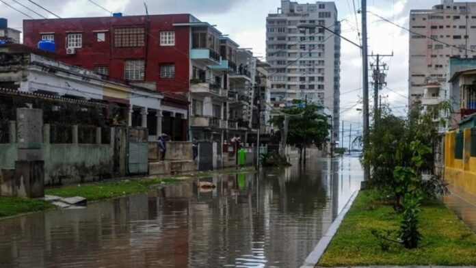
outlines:
[{"label": "beige-pink high-rise apartment block in the top right corner", "polygon": [[410,30],[408,104],[425,105],[429,98],[445,98],[438,83],[451,78],[449,57],[476,57],[476,2],[442,0],[432,9],[411,10]]}]

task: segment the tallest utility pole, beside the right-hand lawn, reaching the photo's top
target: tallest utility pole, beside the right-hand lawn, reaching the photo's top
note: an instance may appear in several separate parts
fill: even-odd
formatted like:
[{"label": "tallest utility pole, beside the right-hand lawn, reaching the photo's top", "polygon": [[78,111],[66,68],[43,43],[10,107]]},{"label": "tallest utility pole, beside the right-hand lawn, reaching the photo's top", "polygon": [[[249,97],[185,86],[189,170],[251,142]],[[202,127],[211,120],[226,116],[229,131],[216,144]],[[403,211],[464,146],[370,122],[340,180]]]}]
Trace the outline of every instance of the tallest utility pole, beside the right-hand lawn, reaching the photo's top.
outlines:
[{"label": "tallest utility pole, beside the right-hand lawn, reaching the photo's top", "polygon": [[[362,98],[364,113],[364,150],[369,148],[369,62],[367,55],[367,0],[362,0]],[[370,167],[364,165],[364,180],[369,180]]]}]

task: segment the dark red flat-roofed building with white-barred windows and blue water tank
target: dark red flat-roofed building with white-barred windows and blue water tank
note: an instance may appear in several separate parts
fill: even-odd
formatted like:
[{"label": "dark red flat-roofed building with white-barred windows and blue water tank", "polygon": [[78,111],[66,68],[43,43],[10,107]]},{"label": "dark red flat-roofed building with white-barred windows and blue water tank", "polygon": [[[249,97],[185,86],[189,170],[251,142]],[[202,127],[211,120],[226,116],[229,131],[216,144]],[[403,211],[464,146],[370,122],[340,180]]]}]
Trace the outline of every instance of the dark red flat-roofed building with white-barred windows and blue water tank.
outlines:
[{"label": "dark red flat-roofed building with white-barred windows and blue water tank", "polygon": [[[25,20],[23,42],[36,47],[40,40],[54,40],[59,59],[68,64],[162,92],[162,130],[185,140],[191,37],[189,27],[173,24],[194,21],[190,14]],[[134,107],[131,112],[137,118],[132,124],[147,113]]]}]

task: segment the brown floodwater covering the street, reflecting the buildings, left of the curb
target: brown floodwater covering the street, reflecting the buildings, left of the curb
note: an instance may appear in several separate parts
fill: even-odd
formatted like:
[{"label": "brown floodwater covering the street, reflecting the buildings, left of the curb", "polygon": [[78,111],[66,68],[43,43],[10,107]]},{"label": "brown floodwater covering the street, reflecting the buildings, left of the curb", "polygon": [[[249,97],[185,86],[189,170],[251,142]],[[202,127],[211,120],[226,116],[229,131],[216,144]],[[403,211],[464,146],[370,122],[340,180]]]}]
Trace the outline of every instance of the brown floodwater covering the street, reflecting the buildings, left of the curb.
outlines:
[{"label": "brown floodwater covering the street, reflecting the buildings, left of the curb", "polygon": [[0,267],[300,267],[361,180],[357,157],[313,159],[5,219]]}]

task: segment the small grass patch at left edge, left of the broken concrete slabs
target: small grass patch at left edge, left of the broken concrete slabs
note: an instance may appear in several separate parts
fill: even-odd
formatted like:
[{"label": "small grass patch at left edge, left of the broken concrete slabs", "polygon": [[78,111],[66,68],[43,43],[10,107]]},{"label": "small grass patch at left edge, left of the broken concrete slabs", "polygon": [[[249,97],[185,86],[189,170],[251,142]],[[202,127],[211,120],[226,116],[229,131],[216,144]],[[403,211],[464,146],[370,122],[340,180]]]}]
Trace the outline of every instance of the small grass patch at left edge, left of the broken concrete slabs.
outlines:
[{"label": "small grass patch at left edge, left of the broken concrete slabs", "polygon": [[43,200],[0,196],[0,217],[9,217],[21,213],[44,211],[53,208],[55,208],[55,206]]}]

